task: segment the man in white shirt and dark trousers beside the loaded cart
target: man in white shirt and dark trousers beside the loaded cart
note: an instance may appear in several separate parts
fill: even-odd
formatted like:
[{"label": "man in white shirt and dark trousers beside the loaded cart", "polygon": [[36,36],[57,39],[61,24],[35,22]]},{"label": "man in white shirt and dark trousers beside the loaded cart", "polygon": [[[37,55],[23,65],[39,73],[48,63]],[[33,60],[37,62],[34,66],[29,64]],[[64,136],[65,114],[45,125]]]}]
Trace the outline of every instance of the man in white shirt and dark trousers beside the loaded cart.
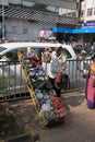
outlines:
[{"label": "man in white shirt and dark trousers beside the loaded cart", "polygon": [[66,68],[67,68],[66,58],[61,56],[61,47],[56,47],[51,56],[48,76],[54,90],[56,91],[57,97],[60,97],[61,95],[61,85],[59,84],[57,85],[55,79],[57,75],[59,78],[63,73]]}]

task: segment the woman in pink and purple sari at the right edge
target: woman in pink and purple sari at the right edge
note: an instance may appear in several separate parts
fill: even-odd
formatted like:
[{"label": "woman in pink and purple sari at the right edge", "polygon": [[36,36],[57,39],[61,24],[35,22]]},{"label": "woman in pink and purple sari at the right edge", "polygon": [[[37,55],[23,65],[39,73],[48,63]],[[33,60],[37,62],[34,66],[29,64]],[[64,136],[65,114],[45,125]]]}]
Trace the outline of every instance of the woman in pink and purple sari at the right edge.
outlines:
[{"label": "woman in pink and purple sari at the right edge", "polygon": [[86,82],[86,99],[88,108],[95,108],[95,55],[90,63],[90,71]]}]

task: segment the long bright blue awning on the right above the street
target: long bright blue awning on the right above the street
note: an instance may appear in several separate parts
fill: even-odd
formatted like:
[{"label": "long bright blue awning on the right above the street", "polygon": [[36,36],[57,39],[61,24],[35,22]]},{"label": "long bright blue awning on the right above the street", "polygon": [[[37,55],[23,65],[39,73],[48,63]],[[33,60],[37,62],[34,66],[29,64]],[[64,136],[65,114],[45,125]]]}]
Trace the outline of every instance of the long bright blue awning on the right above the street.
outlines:
[{"label": "long bright blue awning on the right above the street", "polygon": [[67,33],[67,34],[87,34],[95,33],[95,28],[57,28],[52,27],[54,33]]}]

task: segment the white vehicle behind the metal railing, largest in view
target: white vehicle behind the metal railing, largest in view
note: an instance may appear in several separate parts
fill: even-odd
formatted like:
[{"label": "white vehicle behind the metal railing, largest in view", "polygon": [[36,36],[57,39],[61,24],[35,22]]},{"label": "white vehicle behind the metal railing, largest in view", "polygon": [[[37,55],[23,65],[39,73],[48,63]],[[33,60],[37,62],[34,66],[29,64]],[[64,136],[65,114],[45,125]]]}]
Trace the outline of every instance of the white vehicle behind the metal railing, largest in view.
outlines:
[{"label": "white vehicle behind the metal railing, largest in view", "polygon": [[[69,88],[71,81],[76,80],[76,55],[73,48],[69,45],[50,44],[50,43],[5,43],[0,44],[0,76],[9,76],[9,88],[11,94],[24,93],[27,87],[23,78],[21,66],[17,60],[17,51],[23,55],[28,54],[32,49],[38,54],[40,58],[41,51],[46,47],[50,47],[52,50],[59,45],[62,46],[62,55],[67,58],[68,67],[64,73],[66,90]],[[14,91],[12,88],[15,88]]]}]

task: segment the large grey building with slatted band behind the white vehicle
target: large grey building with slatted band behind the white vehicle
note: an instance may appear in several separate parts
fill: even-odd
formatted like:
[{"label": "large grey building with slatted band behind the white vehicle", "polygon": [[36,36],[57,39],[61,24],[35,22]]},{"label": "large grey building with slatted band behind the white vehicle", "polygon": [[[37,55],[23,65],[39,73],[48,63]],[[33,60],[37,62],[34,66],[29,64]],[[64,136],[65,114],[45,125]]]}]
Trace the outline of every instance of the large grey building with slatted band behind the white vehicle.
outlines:
[{"label": "large grey building with slatted band behind the white vehicle", "polygon": [[[37,40],[39,31],[79,25],[80,0],[1,0],[0,38]],[[58,40],[68,38],[57,34]]]}]

